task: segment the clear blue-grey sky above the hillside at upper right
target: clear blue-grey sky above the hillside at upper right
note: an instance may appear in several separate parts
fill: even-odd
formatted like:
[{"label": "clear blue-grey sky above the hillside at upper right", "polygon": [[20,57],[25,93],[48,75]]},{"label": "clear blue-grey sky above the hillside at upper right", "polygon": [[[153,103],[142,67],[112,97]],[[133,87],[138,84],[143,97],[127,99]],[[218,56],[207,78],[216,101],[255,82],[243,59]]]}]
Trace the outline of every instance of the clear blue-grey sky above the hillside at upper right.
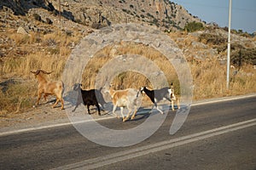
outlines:
[{"label": "clear blue-grey sky above the hillside at upper right", "polygon": [[[207,23],[229,26],[229,0],[171,0]],[[256,0],[232,0],[231,29],[256,32]]]}]

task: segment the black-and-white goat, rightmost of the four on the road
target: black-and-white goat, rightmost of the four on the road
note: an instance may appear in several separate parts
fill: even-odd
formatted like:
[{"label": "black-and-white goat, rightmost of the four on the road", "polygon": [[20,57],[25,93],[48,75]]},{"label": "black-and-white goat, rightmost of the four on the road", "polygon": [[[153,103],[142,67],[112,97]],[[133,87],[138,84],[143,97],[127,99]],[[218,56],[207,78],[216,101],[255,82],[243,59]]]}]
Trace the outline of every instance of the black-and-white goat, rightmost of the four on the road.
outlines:
[{"label": "black-and-white goat, rightmost of the four on the road", "polygon": [[[172,86],[171,86],[171,88],[161,88],[161,89],[155,89],[155,90],[149,90],[148,88],[143,87],[143,88],[141,88],[141,92],[145,93],[148,96],[148,98],[152,101],[152,103],[154,103],[152,109],[155,106],[156,109],[158,111],[160,111],[157,103],[160,102],[160,100],[167,99],[172,102],[172,111],[174,111],[173,100],[176,100],[176,97],[175,97],[174,89]],[[160,113],[163,114],[164,112],[160,111]]]}]

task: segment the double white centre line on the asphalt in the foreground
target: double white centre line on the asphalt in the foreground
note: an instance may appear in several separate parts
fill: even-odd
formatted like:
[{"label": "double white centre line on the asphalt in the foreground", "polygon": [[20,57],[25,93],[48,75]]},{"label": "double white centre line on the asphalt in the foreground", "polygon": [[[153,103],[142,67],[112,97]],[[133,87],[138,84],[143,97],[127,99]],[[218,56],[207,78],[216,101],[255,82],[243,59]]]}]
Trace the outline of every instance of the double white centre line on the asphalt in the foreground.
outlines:
[{"label": "double white centre line on the asphalt in the foreground", "polygon": [[65,165],[62,167],[57,167],[55,168],[55,170],[93,169],[97,167],[103,167],[119,161],[126,161],[128,159],[135,158],[138,156],[145,156],[145,155],[148,155],[149,153],[171,149],[173,147],[177,147],[183,144],[189,144],[201,139],[212,138],[220,134],[234,132],[236,130],[243,129],[246,127],[252,127],[255,125],[256,125],[256,119],[251,119],[245,122],[238,122],[228,126],[214,128],[212,130],[204,131],[201,133],[189,134],[187,136],[183,136],[177,139],[166,140],[156,144],[148,144],[146,146],[141,146],[136,149],[121,151],[121,152],[110,154],[107,156],[100,156],[90,160],[80,161],[80,162]]}]

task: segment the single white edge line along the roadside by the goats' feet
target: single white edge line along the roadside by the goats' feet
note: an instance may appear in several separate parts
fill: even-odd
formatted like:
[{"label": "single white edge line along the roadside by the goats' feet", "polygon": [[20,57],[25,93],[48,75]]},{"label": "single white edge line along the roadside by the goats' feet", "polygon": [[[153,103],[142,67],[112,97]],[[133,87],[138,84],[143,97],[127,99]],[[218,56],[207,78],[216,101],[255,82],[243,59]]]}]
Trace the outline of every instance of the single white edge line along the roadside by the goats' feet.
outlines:
[{"label": "single white edge line along the roadside by the goats' feet", "polygon": [[[231,97],[231,98],[221,98],[221,99],[213,99],[210,101],[202,101],[199,103],[192,104],[192,106],[195,105],[207,105],[207,104],[212,104],[212,103],[217,103],[217,102],[222,102],[222,101],[230,101],[230,100],[235,100],[235,99],[246,99],[250,97],[254,97],[256,94],[249,94],[245,96],[236,96],[236,97]],[[138,112],[137,114],[142,114],[145,111]],[[102,120],[108,120],[108,119],[113,119],[115,116],[109,116],[109,117],[100,117],[95,119],[96,121],[102,121]],[[10,135],[10,134],[15,134],[15,133],[25,133],[29,131],[36,131],[36,130],[42,130],[45,128],[52,128],[52,127],[62,127],[62,126],[67,126],[67,125],[72,125],[72,124],[77,124],[77,123],[83,123],[83,122],[90,122],[90,120],[85,120],[85,121],[80,121],[80,122],[64,122],[64,123],[58,123],[58,124],[52,124],[52,125],[46,125],[46,126],[41,126],[41,127],[28,127],[28,128],[22,128],[22,129],[17,129],[17,130],[11,130],[8,132],[2,132],[0,133],[1,136],[5,135]]]}]

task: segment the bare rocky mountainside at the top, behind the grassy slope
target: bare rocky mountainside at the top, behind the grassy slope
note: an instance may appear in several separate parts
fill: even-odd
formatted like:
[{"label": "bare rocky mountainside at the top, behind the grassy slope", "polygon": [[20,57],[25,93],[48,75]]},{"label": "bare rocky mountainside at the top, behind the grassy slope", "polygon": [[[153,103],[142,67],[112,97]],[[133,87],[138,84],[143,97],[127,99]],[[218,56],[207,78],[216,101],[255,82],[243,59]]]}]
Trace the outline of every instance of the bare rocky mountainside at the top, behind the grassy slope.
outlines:
[{"label": "bare rocky mountainside at the top, behind the grassy slope", "polygon": [[38,14],[38,20],[53,24],[61,11],[61,17],[92,28],[144,22],[166,30],[177,30],[188,22],[201,21],[168,0],[61,0],[61,5],[58,0],[2,0],[0,9],[3,8],[9,8],[14,14]]}]

